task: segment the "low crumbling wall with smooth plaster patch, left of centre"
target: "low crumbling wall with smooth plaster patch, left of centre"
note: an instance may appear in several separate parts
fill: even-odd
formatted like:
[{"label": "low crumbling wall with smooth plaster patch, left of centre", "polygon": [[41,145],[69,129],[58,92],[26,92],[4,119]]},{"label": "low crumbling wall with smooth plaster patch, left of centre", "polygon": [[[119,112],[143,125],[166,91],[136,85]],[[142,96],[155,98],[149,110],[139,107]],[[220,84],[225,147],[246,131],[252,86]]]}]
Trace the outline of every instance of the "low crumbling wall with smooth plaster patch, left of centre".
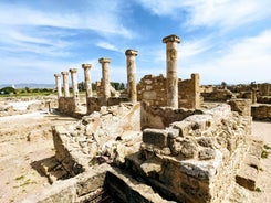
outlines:
[{"label": "low crumbling wall with smooth plaster patch, left of centre", "polygon": [[139,148],[140,104],[103,106],[74,125],[52,130],[55,158],[72,177],[94,164],[97,157],[122,164],[126,153]]}]

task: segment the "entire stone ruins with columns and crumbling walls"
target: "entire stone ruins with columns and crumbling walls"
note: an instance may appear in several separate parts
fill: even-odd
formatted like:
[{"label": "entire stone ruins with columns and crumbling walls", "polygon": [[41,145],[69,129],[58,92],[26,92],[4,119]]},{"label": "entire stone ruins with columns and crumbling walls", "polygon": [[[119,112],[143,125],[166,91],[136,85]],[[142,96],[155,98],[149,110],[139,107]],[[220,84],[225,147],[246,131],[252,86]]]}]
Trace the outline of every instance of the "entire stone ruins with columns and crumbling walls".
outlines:
[{"label": "entire stone ruins with columns and crumbling walls", "polygon": [[122,92],[111,85],[114,58],[98,58],[102,79],[95,92],[92,64],[54,75],[55,111],[76,121],[51,127],[55,154],[40,162],[50,185],[22,202],[250,202],[237,188],[248,193],[261,188],[264,142],[252,136],[252,121],[270,122],[271,85],[204,86],[197,73],[178,78],[180,38],[169,35],[163,43],[166,76],[137,82],[139,53],[126,50]]}]

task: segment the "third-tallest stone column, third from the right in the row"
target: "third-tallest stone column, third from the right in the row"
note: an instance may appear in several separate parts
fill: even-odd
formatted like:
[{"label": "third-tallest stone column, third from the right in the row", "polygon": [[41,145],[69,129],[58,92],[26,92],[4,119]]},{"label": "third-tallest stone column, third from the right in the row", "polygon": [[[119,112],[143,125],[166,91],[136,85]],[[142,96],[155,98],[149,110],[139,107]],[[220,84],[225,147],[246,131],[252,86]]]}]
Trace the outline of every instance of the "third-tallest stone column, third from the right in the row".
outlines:
[{"label": "third-tallest stone column, third from the right in the row", "polygon": [[111,97],[111,83],[110,83],[110,68],[108,68],[111,58],[101,57],[98,62],[102,64],[102,85],[104,88],[103,98],[104,101],[107,101],[107,99]]}]

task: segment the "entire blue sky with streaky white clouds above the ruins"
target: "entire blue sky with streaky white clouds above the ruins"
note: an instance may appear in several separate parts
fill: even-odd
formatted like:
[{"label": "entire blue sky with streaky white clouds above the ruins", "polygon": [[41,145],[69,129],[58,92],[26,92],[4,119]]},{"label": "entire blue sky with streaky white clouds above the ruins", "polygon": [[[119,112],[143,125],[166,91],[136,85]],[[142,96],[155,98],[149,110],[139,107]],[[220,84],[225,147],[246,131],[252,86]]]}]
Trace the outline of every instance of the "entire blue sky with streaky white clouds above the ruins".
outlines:
[{"label": "entire blue sky with streaky white clouds above the ruins", "polygon": [[271,83],[270,0],[1,0],[0,84],[54,83],[54,73],[110,57],[111,81],[126,82],[127,49],[137,81],[165,74],[165,44],[180,36],[178,76],[201,84]]}]

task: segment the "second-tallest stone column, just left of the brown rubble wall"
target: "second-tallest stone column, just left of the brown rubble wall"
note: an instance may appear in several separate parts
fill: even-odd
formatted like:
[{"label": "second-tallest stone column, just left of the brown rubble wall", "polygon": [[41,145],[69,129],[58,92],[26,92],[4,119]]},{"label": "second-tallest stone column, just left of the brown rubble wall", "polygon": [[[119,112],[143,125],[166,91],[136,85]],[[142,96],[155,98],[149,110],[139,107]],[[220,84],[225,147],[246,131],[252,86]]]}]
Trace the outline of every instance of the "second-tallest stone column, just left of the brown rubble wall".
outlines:
[{"label": "second-tallest stone column, just left of the brown rubble wall", "polygon": [[127,92],[128,98],[132,103],[137,101],[137,92],[136,92],[136,63],[135,56],[137,56],[137,51],[126,50],[126,65],[127,65]]}]

